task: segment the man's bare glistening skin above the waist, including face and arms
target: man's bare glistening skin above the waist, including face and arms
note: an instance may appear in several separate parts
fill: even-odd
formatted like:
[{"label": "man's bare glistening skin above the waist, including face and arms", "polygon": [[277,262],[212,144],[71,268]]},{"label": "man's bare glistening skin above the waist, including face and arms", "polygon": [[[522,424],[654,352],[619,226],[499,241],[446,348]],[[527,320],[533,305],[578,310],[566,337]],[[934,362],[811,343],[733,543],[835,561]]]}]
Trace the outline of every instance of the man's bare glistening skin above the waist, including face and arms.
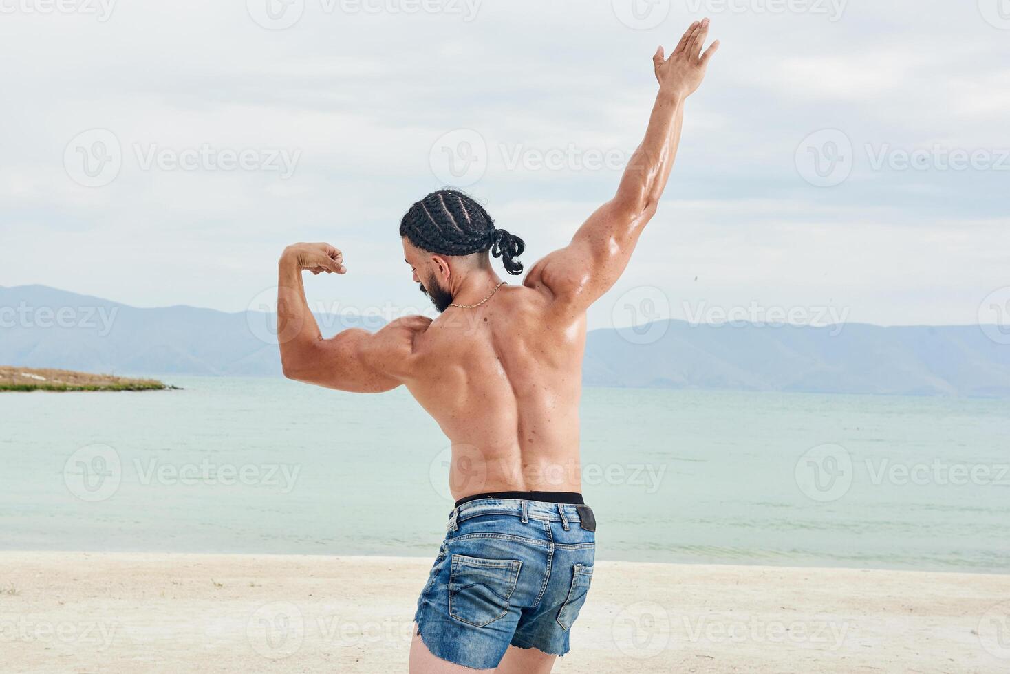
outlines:
[{"label": "man's bare glistening skin above the waist, including face and arms", "polygon": [[[378,392],[406,385],[452,445],[456,498],[485,491],[581,491],[579,400],[586,310],[623,272],[652,218],[680,141],[684,101],[701,84],[708,20],[695,22],[669,59],[653,57],[660,83],[645,137],[617,193],[568,246],[502,286],[479,307],[449,307],[431,321],[411,316],[375,334],[352,329],[322,339],[302,271],[345,273],[343,254],[297,243],[281,256],[278,335],[284,373],[330,388]],[[446,256],[403,239],[415,283],[437,282],[453,303],[476,305],[502,280],[488,254]]]}]

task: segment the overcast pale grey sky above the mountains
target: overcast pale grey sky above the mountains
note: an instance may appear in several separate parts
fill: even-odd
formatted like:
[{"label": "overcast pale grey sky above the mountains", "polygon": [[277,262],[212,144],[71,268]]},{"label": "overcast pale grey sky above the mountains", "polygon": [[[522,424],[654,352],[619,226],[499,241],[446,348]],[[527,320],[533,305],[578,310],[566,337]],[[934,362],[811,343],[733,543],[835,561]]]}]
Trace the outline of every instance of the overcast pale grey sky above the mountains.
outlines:
[{"label": "overcast pale grey sky above the mountains", "polygon": [[722,46],[591,326],[974,323],[1010,299],[1006,4],[0,0],[0,286],[240,311],[323,240],[348,273],[316,306],[426,310],[410,204],[464,186],[531,265],[612,196],[655,46],[707,15]]}]

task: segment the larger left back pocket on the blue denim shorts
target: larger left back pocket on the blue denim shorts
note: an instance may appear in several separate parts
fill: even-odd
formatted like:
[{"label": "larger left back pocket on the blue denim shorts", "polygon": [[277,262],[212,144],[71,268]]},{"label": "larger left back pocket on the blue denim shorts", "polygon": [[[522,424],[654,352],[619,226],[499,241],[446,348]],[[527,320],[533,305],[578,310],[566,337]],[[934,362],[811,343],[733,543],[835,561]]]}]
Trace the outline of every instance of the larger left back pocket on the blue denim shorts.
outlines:
[{"label": "larger left back pocket on the blue denim shorts", "polygon": [[448,614],[483,628],[508,612],[519,580],[518,559],[480,559],[452,555],[448,577]]}]

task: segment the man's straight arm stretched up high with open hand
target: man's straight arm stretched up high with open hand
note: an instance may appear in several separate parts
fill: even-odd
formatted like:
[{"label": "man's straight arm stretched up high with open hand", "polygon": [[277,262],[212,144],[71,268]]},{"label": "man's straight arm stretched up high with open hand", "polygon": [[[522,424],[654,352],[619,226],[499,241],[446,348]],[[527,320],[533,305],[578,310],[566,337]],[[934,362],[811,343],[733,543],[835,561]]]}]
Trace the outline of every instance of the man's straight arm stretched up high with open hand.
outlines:
[{"label": "man's straight arm stretched up high with open hand", "polygon": [[530,269],[526,286],[548,293],[565,311],[583,312],[606,293],[624,271],[642,228],[670,178],[681,139],[684,101],[701,84],[716,40],[701,52],[708,19],[691,24],[669,59],[663,47],[652,57],[660,93],[645,138],[631,156],[617,194],[579,228],[568,246]]}]

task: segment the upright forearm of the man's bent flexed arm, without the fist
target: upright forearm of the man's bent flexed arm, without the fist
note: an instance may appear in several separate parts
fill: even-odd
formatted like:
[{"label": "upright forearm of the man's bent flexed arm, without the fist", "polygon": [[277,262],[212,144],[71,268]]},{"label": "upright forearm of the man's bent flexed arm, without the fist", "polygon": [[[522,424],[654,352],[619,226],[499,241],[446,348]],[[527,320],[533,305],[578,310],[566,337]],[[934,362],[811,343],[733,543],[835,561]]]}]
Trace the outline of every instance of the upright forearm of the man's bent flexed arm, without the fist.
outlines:
[{"label": "upright forearm of the man's bent flexed arm, without the fist", "polygon": [[315,348],[322,333],[305,300],[302,268],[297,255],[285,249],[278,263],[277,341],[285,372],[296,370]]}]

